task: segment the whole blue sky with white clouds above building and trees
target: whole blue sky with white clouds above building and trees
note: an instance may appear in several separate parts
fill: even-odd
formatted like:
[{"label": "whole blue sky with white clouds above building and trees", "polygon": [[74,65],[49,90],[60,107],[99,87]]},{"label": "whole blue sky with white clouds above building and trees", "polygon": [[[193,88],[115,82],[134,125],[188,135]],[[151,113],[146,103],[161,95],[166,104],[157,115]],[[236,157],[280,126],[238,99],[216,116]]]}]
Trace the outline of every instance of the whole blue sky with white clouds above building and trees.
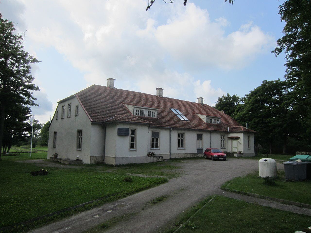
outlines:
[{"label": "whole blue sky with white clouds above building and trees", "polygon": [[2,0],[3,18],[25,32],[24,48],[41,62],[32,107],[45,123],[57,102],[90,85],[107,85],[213,106],[222,94],[244,96],[262,80],[283,79],[284,1]]}]

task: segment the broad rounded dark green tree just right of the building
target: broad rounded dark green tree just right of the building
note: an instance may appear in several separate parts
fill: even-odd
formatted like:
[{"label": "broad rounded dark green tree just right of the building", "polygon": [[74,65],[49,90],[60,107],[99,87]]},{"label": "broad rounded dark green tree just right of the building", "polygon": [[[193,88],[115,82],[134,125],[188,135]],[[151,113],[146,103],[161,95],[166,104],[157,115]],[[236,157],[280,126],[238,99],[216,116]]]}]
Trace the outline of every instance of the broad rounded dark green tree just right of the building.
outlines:
[{"label": "broad rounded dark green tree just right of the building", "polygon": [[269,147],[283,147],[289,137],[297,136],[301,121],[293,110],[292,93],[287,81],[264,80],[262,84],[245,95],[244,104],[236,108],[236,120],[256,130],[256,141]]}]

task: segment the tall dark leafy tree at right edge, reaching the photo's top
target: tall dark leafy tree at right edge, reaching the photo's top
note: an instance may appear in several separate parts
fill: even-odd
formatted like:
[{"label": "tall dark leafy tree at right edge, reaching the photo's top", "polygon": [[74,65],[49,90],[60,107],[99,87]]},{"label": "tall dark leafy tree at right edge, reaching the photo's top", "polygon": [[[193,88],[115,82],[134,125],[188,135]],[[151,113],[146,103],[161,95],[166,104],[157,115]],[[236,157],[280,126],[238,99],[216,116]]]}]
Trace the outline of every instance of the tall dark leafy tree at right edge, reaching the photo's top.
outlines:
[{"label": "tall dark leafy tree at right edge, reaching the photo's top", "polygon": [[311,134],[311,1],[286,0],[279,6],[281,21],[285,21],[284,36],[272,51],[285,52],[285,78],[293,88],[293,108],[303,119],[307,139]]}]

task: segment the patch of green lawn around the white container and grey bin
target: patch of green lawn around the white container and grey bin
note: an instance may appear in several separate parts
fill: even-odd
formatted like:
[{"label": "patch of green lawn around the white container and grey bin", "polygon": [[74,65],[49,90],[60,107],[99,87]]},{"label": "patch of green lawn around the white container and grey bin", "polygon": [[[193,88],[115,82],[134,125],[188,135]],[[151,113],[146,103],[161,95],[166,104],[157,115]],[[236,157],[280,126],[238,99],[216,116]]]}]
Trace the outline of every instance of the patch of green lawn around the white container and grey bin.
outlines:
[{"label": "patch of green lawn around the white container and grey bin", "polygon": [[276,186],[264,185],[263,178],[259,177],[258,172],[256,172],[247,176],[236,177],[222,185],[222,188],[311,205],[311,180],[287,182],[284,171],[278,171],[277,175]]}]

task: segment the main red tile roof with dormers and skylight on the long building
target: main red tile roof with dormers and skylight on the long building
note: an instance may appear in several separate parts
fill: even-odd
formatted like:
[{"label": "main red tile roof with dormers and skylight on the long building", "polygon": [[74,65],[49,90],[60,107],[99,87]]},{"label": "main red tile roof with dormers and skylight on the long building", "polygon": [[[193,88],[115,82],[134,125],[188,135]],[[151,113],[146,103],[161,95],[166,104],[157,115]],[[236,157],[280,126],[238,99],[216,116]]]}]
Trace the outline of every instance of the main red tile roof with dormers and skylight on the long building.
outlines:
[{"label": "main red tile roof with dormers and skylight on the long building", "polygon": [[[59,103],[77,96],[82,107],[93,122],[124,121],[149,123],[154,127],[168,127],[181,129],[213,130],[230,132],[248,131],[234,121],[230,116],[218,111],[217,109],[200,103],[194,103],[168,97],[145,94],[123,89],[114,89],[106,86],[92,85],[77,94],[67,97]],[[150,107],[158,109],[157,117],[137,117],[129,114],[124,104]],[[188,118],[189,121],[180,120],[170,108],[178,109]],[[204,122],[197,114],[206,116],[220,117],[220,124]],[[233,128],[232,128],[233,127]],[[234,129],[232,131],[231,129]]]}]

